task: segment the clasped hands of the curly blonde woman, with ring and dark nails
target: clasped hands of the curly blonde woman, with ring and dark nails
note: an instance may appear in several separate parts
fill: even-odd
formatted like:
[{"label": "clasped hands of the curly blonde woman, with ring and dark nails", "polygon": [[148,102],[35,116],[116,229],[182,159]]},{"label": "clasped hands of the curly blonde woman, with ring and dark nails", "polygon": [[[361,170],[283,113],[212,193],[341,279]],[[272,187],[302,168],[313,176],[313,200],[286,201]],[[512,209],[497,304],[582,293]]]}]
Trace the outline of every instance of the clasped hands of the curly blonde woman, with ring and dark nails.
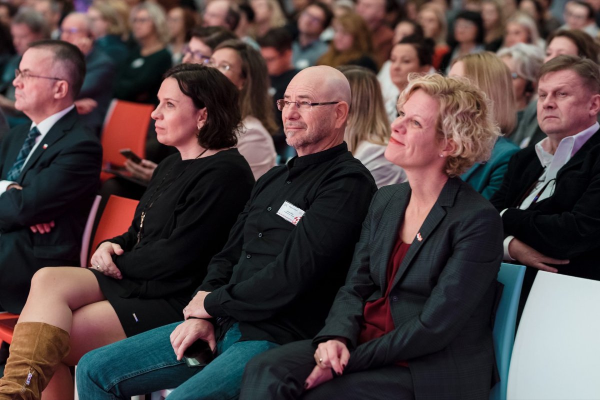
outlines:
[{"label": "clasped hands of the curly blonde woman, with ring and dark nails", "polygon": [[314,352],[314,360],[317,365],[306,378],[304,387],[312,389],[320,384],[331,380],[334,372],[337,375],[344,373],[344,368],[350,359],[350,351],[346,347],[346,340],[338,338],[319,343]]}]

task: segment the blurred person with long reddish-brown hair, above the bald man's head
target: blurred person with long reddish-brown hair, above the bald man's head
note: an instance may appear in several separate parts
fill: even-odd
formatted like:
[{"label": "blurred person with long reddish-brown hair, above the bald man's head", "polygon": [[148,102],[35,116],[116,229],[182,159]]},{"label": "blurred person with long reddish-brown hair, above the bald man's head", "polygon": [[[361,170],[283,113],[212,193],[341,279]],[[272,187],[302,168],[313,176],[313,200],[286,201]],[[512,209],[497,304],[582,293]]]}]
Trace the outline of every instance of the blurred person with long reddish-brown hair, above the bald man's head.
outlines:
[{"label": "blurred person with long reddish-brown hair, above the bald man's head", "polygon": [[329,65],[337,68],[341,65],[360,65],[377,73],[377,63],[373,60],[371,37],[364,20],[353,11],[336,17],[332,25],[334,38],[317,65]]}]

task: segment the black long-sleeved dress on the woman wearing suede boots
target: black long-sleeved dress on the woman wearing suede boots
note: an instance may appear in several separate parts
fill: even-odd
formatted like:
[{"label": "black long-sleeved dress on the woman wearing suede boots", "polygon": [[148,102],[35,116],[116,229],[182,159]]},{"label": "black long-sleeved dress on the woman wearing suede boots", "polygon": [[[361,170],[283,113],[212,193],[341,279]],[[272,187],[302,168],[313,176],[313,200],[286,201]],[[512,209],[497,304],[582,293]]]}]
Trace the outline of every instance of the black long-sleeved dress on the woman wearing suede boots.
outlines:
[{"label": "black long-sleeved dress on the woman wearing suede boots", "polygon": [[[158,165],[132,225],[109,240],[125,250],[113,256],[123,278],[92,269],[128,337],[183,319],[183,308],[224,246],[253,184],[250,166],[236,149],[196,160],[173,154]],[[149,202],[154,204],[148,208]]]}]

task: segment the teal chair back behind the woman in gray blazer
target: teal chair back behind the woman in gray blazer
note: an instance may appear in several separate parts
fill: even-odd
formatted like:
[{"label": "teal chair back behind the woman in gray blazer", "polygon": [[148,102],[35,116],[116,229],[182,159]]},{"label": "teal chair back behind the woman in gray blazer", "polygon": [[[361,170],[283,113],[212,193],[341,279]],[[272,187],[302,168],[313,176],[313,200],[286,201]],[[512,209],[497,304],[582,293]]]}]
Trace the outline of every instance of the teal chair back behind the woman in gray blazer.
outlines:
[{"label": "teal chair back behind the woman in gray blazer", "polygon": [[512,346],[515,343],[517,308],[524,276],[525,266],[523,265],[506,263],[500,265],[498,281],[504,285],[504,289],[496,310],[493,332],[500,381],[491,389],[490,400],[506,400],[508,366],[511,365]]}]

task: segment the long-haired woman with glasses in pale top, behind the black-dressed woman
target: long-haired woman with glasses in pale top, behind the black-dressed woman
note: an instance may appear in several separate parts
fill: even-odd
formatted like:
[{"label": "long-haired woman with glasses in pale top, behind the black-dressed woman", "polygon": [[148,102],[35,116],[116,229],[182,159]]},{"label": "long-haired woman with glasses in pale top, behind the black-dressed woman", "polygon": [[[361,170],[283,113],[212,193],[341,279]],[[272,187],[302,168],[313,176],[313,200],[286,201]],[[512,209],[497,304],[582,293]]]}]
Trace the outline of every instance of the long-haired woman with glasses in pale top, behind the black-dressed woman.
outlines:
[{"label": "long-haired woman with glasses in pale top, behind the black-dressed woman", "polygon": [[237,148],[258,180],[275,166],[277,157],[271,137],[277,132],[277,125],[269,95],[271,84],[265,59],[249,44],[241,40],[227,40],[212,53],[210,65],[239,89],[242,129]]}]

